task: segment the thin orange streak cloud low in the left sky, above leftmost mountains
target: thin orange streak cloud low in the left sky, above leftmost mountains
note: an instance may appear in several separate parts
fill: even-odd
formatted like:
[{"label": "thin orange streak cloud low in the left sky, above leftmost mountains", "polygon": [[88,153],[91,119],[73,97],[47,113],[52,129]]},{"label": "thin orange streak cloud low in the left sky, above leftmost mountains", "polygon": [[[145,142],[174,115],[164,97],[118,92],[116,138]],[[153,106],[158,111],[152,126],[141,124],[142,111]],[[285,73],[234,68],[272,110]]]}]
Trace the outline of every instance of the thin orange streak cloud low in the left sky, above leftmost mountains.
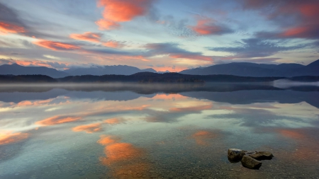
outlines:
[{"label": "thin orange streak cloud low in the left sky, above leftmost mountains", "polygon": [[50,50],[79,50],[81,48],[77,45],[62,42],[54,42],[50,40],[38,40],[33,42],[33,44]]}]

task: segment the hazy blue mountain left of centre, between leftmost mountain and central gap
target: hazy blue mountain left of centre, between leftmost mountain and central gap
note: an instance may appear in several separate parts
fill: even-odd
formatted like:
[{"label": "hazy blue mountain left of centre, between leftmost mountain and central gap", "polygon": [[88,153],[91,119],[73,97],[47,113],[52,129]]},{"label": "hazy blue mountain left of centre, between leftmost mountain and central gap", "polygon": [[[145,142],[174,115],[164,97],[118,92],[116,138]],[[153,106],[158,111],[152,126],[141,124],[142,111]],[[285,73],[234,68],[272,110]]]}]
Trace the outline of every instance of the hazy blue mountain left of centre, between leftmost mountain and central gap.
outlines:
[{"label": "hazy blue mountain left of centre, between leftmost mountain and central gap", "polygon": [[114,65],[114,66],[102,66],[102,67],[90,67],[90,68],[71,68],[65,70],[67,74],[72,76],[77,75],[106,75],[106,74],[118,74],[118,75],[130,75],[138,72],[154,72],[154,69],[138,69],[137,67],[131,67],[127,65]]}]

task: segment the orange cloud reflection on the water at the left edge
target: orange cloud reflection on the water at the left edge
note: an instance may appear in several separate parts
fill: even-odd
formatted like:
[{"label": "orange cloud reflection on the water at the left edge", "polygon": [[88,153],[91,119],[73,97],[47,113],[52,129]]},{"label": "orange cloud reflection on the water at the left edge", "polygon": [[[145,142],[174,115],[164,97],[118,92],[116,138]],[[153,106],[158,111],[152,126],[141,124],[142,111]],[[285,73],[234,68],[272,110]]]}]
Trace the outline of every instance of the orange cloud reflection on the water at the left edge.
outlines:
[{"label": "orange cloud reflection on the water at the left edge", "polygon": [[13,133],[11,131],[0,132],[0,145],[11,144],[15,142],[20,142],[29,137],[28,133]]}]

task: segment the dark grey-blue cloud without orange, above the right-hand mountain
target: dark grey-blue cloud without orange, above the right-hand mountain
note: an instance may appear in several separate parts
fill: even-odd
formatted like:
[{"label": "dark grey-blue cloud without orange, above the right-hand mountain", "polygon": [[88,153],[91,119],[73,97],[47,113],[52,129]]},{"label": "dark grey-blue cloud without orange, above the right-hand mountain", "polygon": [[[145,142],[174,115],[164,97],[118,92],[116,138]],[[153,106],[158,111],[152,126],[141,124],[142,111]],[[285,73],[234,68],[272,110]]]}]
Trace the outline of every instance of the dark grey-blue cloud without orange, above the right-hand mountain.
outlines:
[{"label": "dark grey-blue cloud without orange, above the right-hand mountain", "polygon": [[269,57],[277,52],[287,50],[297,50],[305,45],[279,46],[275,42],[259,38],[243,39],[242,42],[236,42],[239,47],[208,47],[208,50],[216,52],[230,52],[235,54],[233,58],[251,58],[251,57]]}]

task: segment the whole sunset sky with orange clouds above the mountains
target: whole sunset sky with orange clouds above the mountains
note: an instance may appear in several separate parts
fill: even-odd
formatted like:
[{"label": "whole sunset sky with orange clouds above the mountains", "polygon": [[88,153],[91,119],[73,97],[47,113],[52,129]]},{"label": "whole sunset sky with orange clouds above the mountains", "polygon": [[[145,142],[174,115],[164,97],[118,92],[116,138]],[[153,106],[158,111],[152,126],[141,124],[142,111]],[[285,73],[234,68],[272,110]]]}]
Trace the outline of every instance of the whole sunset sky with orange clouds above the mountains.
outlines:
[{"label": "whole sunset sky with orange clouds above the mountains", "polygon": [[0,64],[181,71],[319,59],[318,0],[0,0]]}]

